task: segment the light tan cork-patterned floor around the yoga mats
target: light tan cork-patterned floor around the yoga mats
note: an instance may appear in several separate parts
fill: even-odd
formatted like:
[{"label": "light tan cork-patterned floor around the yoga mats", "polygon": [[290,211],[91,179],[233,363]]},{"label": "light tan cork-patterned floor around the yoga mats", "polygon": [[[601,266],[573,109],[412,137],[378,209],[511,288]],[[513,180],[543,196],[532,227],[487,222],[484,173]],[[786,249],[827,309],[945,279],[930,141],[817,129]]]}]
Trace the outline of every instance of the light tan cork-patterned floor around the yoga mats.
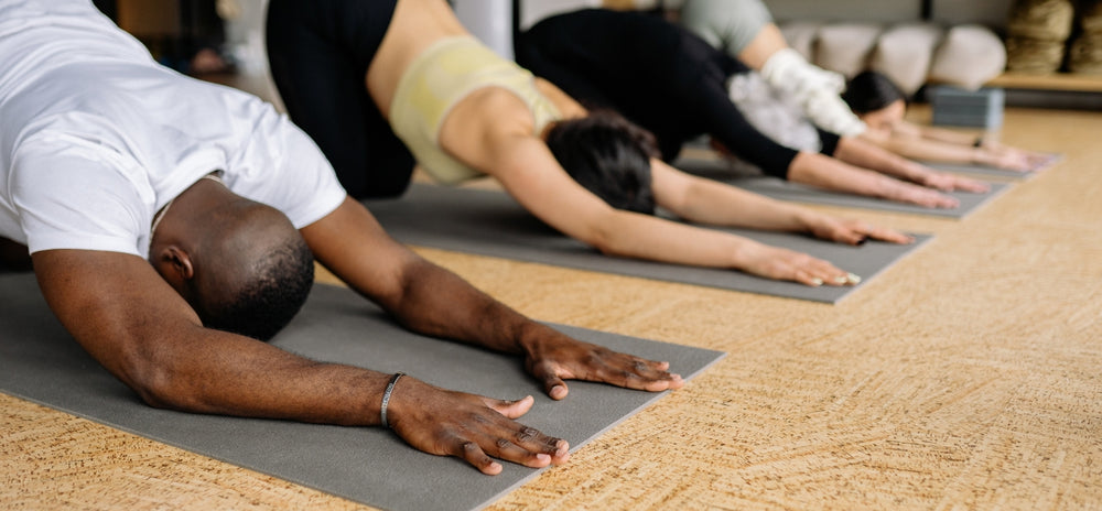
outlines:
[{"label": "light tan cork-patterned floor around the yoga mats", "polygon": [[[1102,509],[1102,115],[1002,133],[1066,160],[964,221],[863,213],[936,239],[835,306],[420,250],[539,319],[730,352],[491,509]],[[4,509],[359,508],[0,407]]]}]

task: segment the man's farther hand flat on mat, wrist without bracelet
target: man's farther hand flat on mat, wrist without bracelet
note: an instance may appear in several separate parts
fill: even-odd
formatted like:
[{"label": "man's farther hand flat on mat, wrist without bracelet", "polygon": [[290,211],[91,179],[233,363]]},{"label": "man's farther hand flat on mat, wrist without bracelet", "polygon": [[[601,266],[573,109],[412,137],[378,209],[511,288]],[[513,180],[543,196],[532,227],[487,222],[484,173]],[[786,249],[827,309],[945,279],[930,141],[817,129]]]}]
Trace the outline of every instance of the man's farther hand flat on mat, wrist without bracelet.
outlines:
[{"label": "man's farther hand flat on mat, wrist without bracelet", "polygon": [[669,362],[641,359],[563,335],[525,343],[523,350],[528,372],[543,383],[554,400],[565,398],[569,392],[563,380],[596,381],[650,392],[684,385],[680,374],[667,371]]}]

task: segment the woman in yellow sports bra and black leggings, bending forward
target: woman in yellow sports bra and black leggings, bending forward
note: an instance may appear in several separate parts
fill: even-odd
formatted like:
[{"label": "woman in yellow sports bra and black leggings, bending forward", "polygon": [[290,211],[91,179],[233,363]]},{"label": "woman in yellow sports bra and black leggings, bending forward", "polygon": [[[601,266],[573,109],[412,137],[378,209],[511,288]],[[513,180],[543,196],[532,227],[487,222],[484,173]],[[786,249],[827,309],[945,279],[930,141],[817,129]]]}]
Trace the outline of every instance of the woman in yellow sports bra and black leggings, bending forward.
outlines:
[{"label": "woman in yellow sports bra and black leggings, bending forward", "polygon": [[[803,253],[651,214],[661,206],[693,222],[843,243],[910,241],[671,167],[655,157],[648,132],[614,113],[587,112],[474,41],[444,0],[272,0],[268,45],[291,118],[354,196],[400,195],[415,155],[444,183],[495,177],[531,214],[607,254],[807,285],[858,278]],[[577,163],[564,168],[560,159]]]}]

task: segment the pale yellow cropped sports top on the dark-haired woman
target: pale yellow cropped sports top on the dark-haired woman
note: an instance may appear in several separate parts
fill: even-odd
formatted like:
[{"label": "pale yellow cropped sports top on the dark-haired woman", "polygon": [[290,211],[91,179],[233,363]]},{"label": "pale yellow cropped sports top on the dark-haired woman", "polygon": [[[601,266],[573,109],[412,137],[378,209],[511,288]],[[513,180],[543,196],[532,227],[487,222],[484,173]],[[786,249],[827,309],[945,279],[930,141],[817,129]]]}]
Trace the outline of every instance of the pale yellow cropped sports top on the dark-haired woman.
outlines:
[{"label": "pale yellow cropped sports top on the dark-haired woman", "polygon": [[528,105],[536,132],[562,116],[536,88],[534,77],[474,37],[447,37],[425,50],[398,80],[390,126],[436,181],[456,184],[483,175],[447,154],[439,143],[447,113],[468,94],[501,87]]}]

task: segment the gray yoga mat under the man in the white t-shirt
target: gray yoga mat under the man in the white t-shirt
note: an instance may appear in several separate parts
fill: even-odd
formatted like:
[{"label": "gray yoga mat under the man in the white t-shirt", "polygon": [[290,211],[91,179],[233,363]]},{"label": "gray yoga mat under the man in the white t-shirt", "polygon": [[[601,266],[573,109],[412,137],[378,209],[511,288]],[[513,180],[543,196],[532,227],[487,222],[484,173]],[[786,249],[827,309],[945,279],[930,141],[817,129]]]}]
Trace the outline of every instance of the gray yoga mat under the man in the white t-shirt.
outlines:
[{"label": "gray yoga mat under the man in the white t-shirt", "polygon": [[[32,274],[0,275],[0,391],[269,474],[391,510],[479,509],[541,470],[503,464],[484,476],[456,458],[409,447],[390,431],[156,410],[110,376],[62,328]],[[579,339],[655,360],[690,379],[720,351],[557,326]],[[531,394],[520,422],[577,449],[666,393],[571,381],[560,402],[543,394],[519,359],[422,337],[399,328],[347,289],[316,285],[299,316],[272,344],[323,361],[404,371],[449,389],[500,399]],[[677,417],[670,417],[677,427]]]}]

